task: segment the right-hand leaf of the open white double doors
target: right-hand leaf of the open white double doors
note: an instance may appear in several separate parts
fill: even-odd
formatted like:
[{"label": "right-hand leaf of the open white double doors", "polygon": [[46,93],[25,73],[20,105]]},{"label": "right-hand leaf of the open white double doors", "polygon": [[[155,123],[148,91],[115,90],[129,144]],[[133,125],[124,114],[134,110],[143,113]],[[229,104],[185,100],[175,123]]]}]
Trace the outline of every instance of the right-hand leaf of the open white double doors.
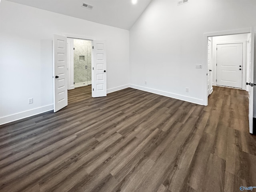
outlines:
[{"label": "right-hand leaf of the open white double doors", "polygon": [[93,41],[92,97],[107,96],[106,42]]}]

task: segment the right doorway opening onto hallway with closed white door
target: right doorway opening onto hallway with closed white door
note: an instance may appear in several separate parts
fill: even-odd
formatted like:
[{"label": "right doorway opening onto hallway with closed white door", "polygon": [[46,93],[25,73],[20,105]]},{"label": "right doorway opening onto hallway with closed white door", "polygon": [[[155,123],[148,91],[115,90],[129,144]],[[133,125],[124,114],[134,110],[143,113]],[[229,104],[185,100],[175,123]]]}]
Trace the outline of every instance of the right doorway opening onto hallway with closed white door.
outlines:
[{"label": "right doorway opening onto hallway with closed white door", "polygon": [[207,94],[212,86],[248,91],[248,40],[250,33],[208,36]]}]

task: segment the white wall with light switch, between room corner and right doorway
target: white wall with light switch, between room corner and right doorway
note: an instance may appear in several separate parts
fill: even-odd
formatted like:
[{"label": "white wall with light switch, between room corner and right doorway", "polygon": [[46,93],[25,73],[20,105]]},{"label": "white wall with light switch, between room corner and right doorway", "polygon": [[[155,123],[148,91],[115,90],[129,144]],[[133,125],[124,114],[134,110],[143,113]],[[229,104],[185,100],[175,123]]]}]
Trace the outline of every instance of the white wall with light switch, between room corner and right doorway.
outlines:
[{"label": "white wall with light switch, between room corner and right doorway", "polygon": [[255,10],[254,0],[189,0],[180,6],[176,0],[153,0],[130,30],[130,84],[203,104],[204,33],[256,26]]}]

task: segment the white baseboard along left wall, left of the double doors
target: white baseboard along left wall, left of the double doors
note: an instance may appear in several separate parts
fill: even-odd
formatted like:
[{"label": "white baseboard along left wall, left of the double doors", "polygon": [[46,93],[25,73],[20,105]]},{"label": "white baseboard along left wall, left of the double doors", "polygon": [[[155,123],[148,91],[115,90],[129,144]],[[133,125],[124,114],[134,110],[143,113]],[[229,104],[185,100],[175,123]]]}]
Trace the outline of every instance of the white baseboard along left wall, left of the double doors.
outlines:
[{"label": "white baseboard along left wall, left of the double doors", "polygon": [[20,120],[20,119],[24,119],[30,116],[34,116],[40,113],[44,113],[47,111],[53,110],[53,104],[51,105],[47,105],[47,106],[43,106],[43,107],[39,107],[39,108],[35,108],[32,110],[27,110],[27,111],[23,111],[20,113],[16,113],[16,114],[12,114],[9,116],[4,116],[0,118],[0,125],[6,124],[6,123],[10,123],[16,120]]}]

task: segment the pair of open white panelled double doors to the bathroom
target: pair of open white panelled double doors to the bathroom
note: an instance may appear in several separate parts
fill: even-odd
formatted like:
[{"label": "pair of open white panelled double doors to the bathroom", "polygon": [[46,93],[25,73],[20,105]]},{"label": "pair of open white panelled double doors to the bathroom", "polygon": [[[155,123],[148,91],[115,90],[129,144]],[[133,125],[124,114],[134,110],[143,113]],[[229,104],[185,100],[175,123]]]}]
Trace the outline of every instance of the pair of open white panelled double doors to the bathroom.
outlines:
[{"label": "pair of open white panelled double doors to the bathroom", "polygon": [[[93,40],[92,97],[107,95],[106,43]],[[53,38],[54,112],[68,105],[67,37]]]}]

